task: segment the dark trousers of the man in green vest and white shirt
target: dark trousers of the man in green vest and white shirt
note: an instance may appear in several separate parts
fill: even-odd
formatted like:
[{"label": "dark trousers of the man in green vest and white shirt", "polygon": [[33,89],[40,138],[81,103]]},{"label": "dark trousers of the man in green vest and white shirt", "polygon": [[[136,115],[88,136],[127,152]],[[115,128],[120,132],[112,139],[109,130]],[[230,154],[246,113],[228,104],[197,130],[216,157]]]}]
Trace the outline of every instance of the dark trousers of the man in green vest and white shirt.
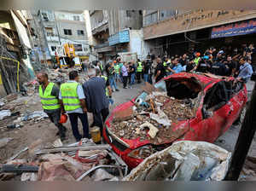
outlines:
[{"label": "dark trousers of the man in green vest and white shirt", "polygon": [[[76,138],[77,142],[79,142],[81,138],[89,138],[87,113],[68,113],[68,116],[72,126],[73,136]],[[79,119],[83,125],[84,136],[81,136],[79,133]]]}]

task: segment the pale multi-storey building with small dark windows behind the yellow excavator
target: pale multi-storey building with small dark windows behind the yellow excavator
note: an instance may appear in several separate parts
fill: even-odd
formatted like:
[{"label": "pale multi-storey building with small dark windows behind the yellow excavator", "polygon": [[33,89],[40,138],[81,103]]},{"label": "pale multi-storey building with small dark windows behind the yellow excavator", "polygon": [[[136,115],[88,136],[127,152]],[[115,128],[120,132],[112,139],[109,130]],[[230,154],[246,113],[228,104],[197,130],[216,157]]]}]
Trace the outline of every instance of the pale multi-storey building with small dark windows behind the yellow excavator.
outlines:
[{"label": "pale multi-storey building with small dark windows behind the yellow excavator", "polygon": [[75,54],[88,58],[89,43],[83,12],[38,10],[33,12],[33,42],[41,60],[54,60],[55,49],[64,43],[73,43]]}]

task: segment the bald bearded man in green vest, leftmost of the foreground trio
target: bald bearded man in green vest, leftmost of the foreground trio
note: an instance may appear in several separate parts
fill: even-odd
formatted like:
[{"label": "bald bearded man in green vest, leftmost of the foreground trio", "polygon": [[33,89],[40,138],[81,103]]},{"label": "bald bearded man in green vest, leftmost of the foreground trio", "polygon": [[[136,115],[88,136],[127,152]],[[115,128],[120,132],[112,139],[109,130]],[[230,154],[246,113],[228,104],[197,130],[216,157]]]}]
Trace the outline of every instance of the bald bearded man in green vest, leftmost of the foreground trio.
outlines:
[{"label": "bald bearded man in green vest, leftmost of the foreground trio", "polygon": [[59,87],[48,81],[48,75],[40,72],[37,75],[39,86],[39,96],[43,105],[44,113],[47,113],[49,119],[59,129],[56,135],[61,137],[61,141],[65,139],[66,127],[60,124],[61,105],[59,101]]}]

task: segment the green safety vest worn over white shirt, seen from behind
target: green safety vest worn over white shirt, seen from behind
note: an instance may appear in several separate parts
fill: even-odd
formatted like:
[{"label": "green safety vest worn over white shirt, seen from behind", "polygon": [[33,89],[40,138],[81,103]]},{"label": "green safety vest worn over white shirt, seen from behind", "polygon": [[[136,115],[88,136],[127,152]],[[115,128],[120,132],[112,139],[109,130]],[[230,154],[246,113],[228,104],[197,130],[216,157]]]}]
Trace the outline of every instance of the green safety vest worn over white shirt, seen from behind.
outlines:
[{"label": "green safety vest worn over white shirt, seen from behind", "polygon": [[81,107],[77,92],[79,83],[67,82],[61,84],[61,99],[65,111],[73,111]]}]

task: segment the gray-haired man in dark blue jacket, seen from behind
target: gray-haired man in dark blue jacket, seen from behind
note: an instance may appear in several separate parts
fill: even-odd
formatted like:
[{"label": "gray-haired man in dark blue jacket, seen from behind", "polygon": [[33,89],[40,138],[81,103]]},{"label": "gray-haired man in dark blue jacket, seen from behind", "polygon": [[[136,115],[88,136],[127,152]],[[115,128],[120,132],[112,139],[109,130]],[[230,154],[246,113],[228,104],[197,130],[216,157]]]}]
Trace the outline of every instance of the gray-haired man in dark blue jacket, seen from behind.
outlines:
[{"label": "gray-haired man in dark blue jacket, seen from behind", "polygon": [[89,80],[83,84],[87,110],[93,113],[93,124],[103,130],[103,123],[108,117],[108,97],[106,96],[106,81],[96,77],[96,69],[88,70]]}]

